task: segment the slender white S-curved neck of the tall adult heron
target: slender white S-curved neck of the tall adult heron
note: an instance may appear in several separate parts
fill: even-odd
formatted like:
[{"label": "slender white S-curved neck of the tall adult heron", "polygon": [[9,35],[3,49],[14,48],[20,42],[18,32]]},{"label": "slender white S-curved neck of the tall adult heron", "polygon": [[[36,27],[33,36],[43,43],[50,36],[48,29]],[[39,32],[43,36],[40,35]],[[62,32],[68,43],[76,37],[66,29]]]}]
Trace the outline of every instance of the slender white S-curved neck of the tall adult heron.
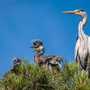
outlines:
[{"label": "slender white S-curved neck of the tall adult heron", "polygon": [[83,27],[87,24],[87,15],[83,17],[83,20],[79,23],[79,38],[83,40],[86,35],[83,31]]}]

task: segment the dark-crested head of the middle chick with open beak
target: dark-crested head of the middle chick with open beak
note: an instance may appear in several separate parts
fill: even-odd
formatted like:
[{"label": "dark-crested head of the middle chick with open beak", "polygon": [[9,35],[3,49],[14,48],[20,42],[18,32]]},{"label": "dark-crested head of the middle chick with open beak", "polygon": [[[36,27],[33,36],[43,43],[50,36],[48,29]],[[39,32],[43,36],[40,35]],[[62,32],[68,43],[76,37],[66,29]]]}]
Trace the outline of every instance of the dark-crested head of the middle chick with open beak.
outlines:
[{"label": "dark-crested head of the middle chick with open beak", "polygon": [[34,46],[30,47],[30,48],[35,48],[34,50],[32,50],[33,52],[34,51],[37,51],[37,52],[44,51],[44,45],[41,40],[35,40],[33,44]]}]

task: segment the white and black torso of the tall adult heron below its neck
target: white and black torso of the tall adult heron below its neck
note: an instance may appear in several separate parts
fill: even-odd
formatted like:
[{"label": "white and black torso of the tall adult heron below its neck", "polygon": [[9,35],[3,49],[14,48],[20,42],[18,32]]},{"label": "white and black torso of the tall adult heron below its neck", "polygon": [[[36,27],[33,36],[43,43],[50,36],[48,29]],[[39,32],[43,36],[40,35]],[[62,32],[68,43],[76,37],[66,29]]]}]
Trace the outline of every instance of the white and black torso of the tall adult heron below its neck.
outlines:
[{"label": "white and black torso of the tall adult heron below its neck", "polygon": [[78,38],[75,47],[75,60],[76,62],[79,61],[79,64],[82,67],[81,69],[86,68],[87,58],[88,58],[88,37],[84,38],[83,40]]}]

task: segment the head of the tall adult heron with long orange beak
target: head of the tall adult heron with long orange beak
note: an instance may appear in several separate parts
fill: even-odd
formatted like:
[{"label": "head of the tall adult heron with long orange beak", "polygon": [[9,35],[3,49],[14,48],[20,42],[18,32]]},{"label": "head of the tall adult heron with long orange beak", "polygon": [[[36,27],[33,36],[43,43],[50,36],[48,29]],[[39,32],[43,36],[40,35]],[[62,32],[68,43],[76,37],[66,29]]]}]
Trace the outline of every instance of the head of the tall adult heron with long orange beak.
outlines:
[{"label": "head of the tall adult heron with long orange beak", "polygon": [[62,13],[74,14],[74,15],[80,16],[82,18],[87,15],[86,12],[82,9],[77,9],[77,10],[74,10],[74,11],[65,11],[65,12],[62,12]]}]

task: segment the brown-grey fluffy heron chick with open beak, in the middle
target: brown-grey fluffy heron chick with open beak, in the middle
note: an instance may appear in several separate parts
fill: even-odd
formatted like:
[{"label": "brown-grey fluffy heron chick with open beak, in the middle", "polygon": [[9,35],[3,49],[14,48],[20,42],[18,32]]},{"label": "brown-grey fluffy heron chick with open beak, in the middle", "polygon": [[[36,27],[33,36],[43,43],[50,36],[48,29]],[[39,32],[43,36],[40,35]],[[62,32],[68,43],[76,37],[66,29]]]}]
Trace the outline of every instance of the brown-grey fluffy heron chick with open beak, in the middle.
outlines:
[{"label": "brown-grey fluffy heron chick with open beak, in the middle", "polygon": [[45,51],[44,45],[41,40],[35,40],[33,42],[34,46],[30,48],[35,48],[32,51],[37,51],[37,54],[34,56],[34,61],[38,65],[44,65],[49,68],[49,70],[52,70],[53,66],[62,66],[60,62],[62,61],[60,56],[55,55],[46,55],[43,56],[43,53]]}]

